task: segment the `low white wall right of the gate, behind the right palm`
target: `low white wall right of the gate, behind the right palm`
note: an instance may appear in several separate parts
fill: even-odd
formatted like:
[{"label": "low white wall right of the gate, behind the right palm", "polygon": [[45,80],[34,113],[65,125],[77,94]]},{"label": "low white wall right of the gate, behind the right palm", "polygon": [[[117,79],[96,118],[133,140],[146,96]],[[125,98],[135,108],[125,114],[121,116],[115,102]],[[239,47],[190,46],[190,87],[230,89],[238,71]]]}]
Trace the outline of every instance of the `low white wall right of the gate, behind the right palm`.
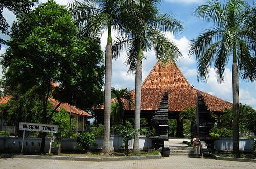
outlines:
[{"label": "low white wall right of the gate, behind the right palm", "polygon": [[[253,153],[253,138],[239,139],[239,150],[241,152]],[[214,141],[214,149],[217,151],[232,152],[233,151],[233,139],[221,138]]]}]

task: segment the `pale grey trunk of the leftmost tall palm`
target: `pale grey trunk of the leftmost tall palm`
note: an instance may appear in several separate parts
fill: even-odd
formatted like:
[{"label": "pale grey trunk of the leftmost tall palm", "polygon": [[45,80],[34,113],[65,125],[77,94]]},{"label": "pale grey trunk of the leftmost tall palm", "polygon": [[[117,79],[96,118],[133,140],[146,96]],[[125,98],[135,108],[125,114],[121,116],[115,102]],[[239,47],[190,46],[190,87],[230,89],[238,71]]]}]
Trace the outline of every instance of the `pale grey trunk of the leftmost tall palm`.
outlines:
[{"label": "pale grey trunk of the leftmost tall palm", "polygon": [[112,40],[111,24],[108,26],[108,42],[106,44],[105,56],[105,102],[104,102],[104,136],[103,148],[104,153],[110,152],[110,102],[111,102],[111,71],[112,71]]}]

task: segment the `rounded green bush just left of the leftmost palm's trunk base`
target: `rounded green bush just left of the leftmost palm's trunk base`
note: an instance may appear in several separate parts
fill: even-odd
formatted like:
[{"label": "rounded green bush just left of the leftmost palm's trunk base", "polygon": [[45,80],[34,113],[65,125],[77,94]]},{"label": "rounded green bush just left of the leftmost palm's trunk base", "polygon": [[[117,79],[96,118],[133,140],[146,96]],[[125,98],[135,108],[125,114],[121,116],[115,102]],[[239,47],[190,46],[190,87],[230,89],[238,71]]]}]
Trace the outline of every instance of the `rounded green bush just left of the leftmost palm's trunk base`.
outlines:
[{"label": "rounded green bush just left of the leftmost palm's trunk base", "polygon": [[89,146],[96,144],[95,140],[93,133],[84,132],[77,137],[77,146],[81,147],[84,152],[88,152]]}]

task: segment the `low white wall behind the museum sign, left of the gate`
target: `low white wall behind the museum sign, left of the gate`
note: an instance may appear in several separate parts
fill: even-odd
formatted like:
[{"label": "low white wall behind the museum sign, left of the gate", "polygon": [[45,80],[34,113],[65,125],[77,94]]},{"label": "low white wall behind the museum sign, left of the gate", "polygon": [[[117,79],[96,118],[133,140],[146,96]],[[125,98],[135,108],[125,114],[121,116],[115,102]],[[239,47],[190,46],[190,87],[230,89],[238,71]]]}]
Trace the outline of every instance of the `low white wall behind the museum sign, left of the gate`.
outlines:
[{"label": "low white wall behind the museum sign, left of the gate", "polygon": [[[124,143],[122,142],[122,137],[119,135],[110,136],[110,148],[112,150],[122,149]],[[97,146],[91,146],[90,149],[102,149],[103,138],[96,139]],[[62,151],[81,151],[80,147],[77,147],[76,139],[63,139],[61,142]],[[20,153],[22,148],[22,138],[15,137],[0,137],[0,153],[9,152],[9,153]],[[140,136],[140,150],[148,150],[152,145],[151,139]],[[24,138],[24,153],[36,153],[40,152],[41,138]],[[49,151],[50,139],[45,141],[45,152]],[[133,139],[129,140],[129,149],[133,148]],[[52,147],[52,152],[56,152],[56,144]]]}]

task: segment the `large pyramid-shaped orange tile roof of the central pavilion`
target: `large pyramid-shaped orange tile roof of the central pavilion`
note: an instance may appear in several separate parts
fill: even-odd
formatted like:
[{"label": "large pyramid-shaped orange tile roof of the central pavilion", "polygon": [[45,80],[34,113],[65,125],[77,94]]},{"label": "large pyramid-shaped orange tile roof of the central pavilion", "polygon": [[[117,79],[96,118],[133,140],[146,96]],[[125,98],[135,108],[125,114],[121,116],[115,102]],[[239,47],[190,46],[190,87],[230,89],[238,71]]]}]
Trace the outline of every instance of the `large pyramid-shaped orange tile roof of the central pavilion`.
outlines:
[{"label": "large pyramid-shaped orange tile roof of the central pavilion", "polygon": [[[204,101],[211,111],[224,111],[225,108],[232,107],[230,102],[193,88],[173,63],[162,66],[157,62],[142,84],[141,110],[157,110],[166,91],[169,93],[169,111],[182,111],[185,107],[196,107],[198,92],[204,96]],[[134,101],[135,90],[132,91],[132,95]],[[127,104],[125,109],[129,109]]]}]

